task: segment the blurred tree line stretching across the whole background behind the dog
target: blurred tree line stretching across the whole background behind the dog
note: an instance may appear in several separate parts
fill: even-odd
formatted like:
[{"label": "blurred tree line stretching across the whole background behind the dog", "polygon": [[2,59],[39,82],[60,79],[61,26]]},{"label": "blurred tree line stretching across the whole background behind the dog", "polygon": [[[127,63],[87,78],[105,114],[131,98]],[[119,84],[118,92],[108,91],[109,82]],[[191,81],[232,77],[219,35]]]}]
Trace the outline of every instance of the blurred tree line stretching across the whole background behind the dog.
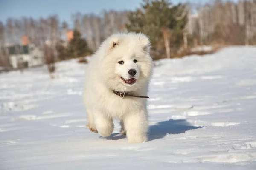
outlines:
[{"label": "blurred tree line stretching across the whole background behind the dog", "polygon": [[[169,0],[142,0],[134,11],[103,11],[101,15],[76,13],[72,25],[58,15],[47,18],[9,18],[0,21],[0,65],[8,65],[5,45],[29,42],[46,54],[47,64],[93,53],[115,32],[143,32],[152,42],[152,57],[171,58],[198,45],[256,44],[256,0],[215,0],[204,5],[172,4]],[[66,33],[74,29],[67,45]]]}]

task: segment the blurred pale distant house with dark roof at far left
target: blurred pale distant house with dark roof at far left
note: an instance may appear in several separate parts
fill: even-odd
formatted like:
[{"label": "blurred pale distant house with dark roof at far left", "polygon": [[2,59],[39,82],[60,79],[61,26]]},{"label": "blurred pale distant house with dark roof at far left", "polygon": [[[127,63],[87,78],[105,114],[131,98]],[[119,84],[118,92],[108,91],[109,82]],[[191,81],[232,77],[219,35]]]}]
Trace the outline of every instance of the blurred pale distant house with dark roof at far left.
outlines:
[{"label": "blurred pale distant house with dark roof at far left", "polygon": [[10,63],[12,68],[34,67],[44,64],[44,53],[34,44],[29,44],[28,39],[24,38],[22,44],[27,45],[9,45],[8,49]]}]

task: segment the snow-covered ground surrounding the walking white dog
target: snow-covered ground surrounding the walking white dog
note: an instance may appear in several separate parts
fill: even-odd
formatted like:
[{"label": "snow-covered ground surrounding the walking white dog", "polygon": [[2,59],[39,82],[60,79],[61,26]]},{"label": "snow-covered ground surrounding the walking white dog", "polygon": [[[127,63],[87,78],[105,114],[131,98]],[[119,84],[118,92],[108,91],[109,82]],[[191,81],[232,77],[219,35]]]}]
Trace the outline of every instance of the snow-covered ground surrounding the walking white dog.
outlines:
[{"label": "snow-covered ground surrounding the walking white dog", "polygon": [[86,65],[0,74],[0,170],[255,170],[256,48],[157,61],[149,141],[128,144],[120,126],[90,132],[81,99]]}]

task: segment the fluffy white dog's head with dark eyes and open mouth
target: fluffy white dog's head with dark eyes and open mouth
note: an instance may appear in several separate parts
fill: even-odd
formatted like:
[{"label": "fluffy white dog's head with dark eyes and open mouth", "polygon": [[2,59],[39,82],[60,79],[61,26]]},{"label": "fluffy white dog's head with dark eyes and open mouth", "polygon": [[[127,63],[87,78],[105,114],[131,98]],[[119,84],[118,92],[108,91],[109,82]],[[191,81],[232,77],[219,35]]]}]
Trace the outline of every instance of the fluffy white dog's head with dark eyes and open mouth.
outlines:
[{"label": "fluffy white dog's head with dark eyes and open mouth", "polygon": [[101,48],[102,79],[116,91],[135,91],[148,83],[152,71],[150,41],[144,34],[113,34]]}]

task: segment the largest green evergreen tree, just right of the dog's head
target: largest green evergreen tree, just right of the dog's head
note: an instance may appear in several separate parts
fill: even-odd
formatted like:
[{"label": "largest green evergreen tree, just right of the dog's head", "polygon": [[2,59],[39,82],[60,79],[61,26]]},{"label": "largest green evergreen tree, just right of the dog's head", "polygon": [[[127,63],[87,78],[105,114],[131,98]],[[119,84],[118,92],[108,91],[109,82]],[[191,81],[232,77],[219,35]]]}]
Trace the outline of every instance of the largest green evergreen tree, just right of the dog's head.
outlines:
[{"label": "largest green evergreen tree, just right of the dog's head", "polygon": [[[180,45],[183,40],[187,14],[182,4],[173,6],[168,0],[143,0],[141,8],[128,14],[128,20],[128,31],[146,34],[153,50],[160,51],[165,47],[168,51],[167,46],[171,40],[172,47]],[[167,43],[166,36],[169,41]]]}]

